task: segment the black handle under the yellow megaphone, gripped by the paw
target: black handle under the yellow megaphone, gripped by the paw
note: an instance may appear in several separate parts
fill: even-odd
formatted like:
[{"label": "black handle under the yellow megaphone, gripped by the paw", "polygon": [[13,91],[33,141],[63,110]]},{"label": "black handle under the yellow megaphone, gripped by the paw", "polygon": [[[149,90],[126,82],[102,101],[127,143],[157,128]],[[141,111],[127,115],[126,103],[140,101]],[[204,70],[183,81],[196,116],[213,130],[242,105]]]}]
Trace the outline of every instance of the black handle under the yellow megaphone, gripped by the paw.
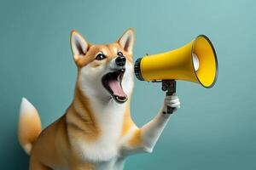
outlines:
[{"label": "black handle under the yellow megaphone, gripped by the paw", "polygon": [[[171,96],[176,93],[176,81],[175,80],[163,80],[162,90],[166,91],[166,96]],[[174,108],[167,106],[167,114],[172,114]]]}]

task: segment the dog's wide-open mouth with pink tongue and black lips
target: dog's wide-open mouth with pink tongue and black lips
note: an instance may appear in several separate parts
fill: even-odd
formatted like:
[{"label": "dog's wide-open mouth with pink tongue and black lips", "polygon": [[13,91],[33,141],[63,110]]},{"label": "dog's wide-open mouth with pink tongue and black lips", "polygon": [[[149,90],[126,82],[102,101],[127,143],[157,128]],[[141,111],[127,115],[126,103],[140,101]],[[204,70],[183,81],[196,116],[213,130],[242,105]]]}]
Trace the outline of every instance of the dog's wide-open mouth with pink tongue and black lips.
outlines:
[{"label": "dog's wide-open mouth with pink tongue and black lips", "polygon": [[113,99],[118,103],[125,103],[127,95],[122,88],[122,79],[125,69],[109,72],[102,77],[102,84],[106,88]]}]

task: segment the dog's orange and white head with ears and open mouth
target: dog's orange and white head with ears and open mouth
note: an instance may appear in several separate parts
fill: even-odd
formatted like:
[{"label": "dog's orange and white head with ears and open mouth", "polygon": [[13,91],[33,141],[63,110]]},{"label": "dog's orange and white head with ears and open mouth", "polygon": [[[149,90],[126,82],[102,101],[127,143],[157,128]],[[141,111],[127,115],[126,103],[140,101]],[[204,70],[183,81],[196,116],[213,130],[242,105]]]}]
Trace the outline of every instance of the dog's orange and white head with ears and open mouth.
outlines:
[{"label": "dog's orange and white head with ears and open mouth", "polygon": [[78,67],[77,86],[102,101],[125,103],[133,88],[133,29],[110,44],[91,44],[78,31],[72,31],[70,42]]}]

